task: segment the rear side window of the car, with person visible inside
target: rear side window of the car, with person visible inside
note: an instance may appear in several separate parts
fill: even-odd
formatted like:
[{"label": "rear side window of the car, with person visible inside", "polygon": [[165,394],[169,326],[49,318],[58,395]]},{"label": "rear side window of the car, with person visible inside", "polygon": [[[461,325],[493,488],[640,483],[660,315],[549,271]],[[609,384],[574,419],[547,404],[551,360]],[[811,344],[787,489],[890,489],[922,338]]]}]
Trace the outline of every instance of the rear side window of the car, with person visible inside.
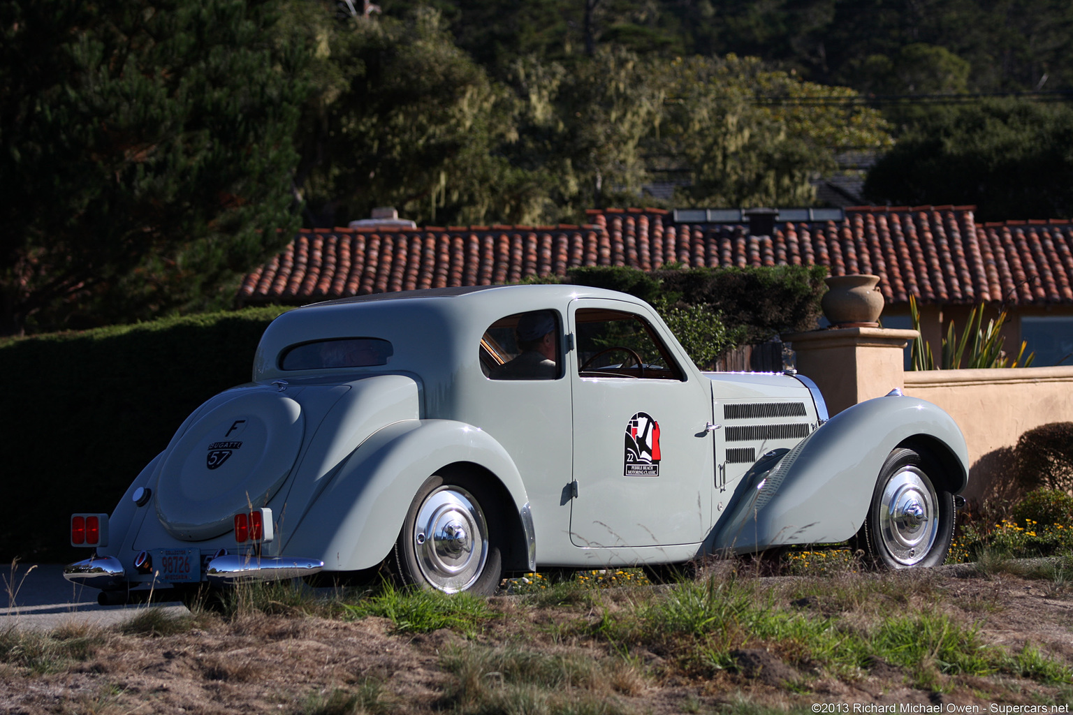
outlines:
[{"label": "rear side window of the car, with person visible inside", "polygon": [[528,311],[502,317],[481,338],[481,370],[489,379],[557,379],[562,376],[559,314]]}]

